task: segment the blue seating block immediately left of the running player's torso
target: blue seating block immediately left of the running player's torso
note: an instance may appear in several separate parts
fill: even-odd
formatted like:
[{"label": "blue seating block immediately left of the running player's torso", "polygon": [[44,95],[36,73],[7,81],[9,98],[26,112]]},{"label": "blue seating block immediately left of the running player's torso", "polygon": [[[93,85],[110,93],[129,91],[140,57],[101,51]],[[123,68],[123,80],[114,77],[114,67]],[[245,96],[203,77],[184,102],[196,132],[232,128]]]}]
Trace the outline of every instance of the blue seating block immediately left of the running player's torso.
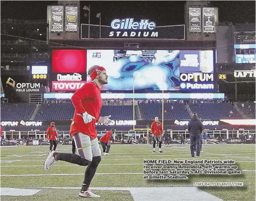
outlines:
[{"label": "blue seating block immediately left of the running player's torso", "polygon": [[74,116],[74,106],[70,102],[60,104],[44,103],[36,115],[36,121],[70,120]]}]

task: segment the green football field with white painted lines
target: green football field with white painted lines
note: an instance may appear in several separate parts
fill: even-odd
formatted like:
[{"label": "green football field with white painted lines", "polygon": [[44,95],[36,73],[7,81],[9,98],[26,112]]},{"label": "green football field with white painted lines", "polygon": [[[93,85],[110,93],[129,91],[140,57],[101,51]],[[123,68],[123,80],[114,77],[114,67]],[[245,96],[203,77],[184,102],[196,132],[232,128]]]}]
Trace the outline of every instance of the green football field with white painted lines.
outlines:
[{"label": "green football field with white painted lines", "polygon": [[[85,167],[57,161],[43,170],[49,146],[1,147],[1,200],[82,200],[78,192]],[[57,146],[70,153],[71,146]],[[158,149],[156,148],[158,152]],[[255,200],[255,144],[209,144],[195,160],[232,159],[242,170],[236,176],[188,176],[188,180],[144,180],[144,159],[192,160],[189,145],[112,145],[91,182],[96,200]],[[194,187],[194,182],[243,182],[243,187]],[[14,189],[7,189],[14,188]],[[31,195],[27,191],[37,190]],[[37,193],[36,193],[37,192]],[[23,196],[9,196],[18,193]],[[3,195],[4,194],[4,195]],[[27,195],[27,196],[24,196]]]}]

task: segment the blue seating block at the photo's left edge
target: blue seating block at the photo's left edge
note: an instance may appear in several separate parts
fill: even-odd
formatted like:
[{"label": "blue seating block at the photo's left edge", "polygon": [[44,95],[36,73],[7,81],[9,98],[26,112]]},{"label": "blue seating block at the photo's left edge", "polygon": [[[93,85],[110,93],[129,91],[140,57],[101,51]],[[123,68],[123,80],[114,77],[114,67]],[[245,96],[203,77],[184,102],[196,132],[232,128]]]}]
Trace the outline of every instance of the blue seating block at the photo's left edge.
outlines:
[{"label": "blue seating block at the photo's left edge", "polygon": [[4,103],[1,104],[1,121],[30,120],[36,104],[33,103]]}]

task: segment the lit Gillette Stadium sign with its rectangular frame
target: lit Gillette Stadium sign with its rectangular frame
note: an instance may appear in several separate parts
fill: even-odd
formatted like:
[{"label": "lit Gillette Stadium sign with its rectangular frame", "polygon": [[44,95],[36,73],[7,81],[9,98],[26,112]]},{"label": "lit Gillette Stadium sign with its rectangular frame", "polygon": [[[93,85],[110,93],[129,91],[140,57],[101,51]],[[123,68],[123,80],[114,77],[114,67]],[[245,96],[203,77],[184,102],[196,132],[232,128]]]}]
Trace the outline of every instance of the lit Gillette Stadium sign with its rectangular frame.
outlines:
[{"label": "lit Gillette Stadium sign with its rectangular frame", "polygon": [[185,40],[184,33],[184,24],[157,27],[157,24],[149,19],[113,19],[110,25],[104,26],[81,24],[81,39]]}]

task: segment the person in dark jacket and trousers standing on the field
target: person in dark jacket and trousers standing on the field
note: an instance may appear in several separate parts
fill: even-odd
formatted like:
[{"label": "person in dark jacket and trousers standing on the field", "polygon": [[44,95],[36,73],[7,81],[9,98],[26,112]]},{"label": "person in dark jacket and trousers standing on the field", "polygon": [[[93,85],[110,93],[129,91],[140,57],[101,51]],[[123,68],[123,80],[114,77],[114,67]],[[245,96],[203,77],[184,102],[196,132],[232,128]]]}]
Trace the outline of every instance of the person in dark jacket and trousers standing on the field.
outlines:
[{"label": "person in dark jacket and trousers standing on the field", "polygon": [[200,139],[203,131],[203,124],[198,119],[198,114],[193,113],[193,117],[188,122],[188,132],[190,132],[190,151],[191,156],[194,157],[194,146],[196,144],[196,157],[200,157]]}]

